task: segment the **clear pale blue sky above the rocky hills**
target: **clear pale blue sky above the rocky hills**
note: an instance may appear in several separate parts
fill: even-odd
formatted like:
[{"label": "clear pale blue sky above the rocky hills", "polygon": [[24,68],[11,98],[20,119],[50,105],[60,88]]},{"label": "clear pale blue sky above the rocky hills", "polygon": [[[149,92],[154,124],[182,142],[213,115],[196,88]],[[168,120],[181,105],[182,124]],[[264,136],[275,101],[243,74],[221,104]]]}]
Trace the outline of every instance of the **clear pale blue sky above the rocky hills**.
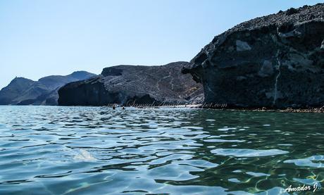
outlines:
[{"label": "clear pale blue sky above the rocky hills", "polygon": [[214,36],[315,0],[0,0],[0,88],[111,65],[189,61]]}]

